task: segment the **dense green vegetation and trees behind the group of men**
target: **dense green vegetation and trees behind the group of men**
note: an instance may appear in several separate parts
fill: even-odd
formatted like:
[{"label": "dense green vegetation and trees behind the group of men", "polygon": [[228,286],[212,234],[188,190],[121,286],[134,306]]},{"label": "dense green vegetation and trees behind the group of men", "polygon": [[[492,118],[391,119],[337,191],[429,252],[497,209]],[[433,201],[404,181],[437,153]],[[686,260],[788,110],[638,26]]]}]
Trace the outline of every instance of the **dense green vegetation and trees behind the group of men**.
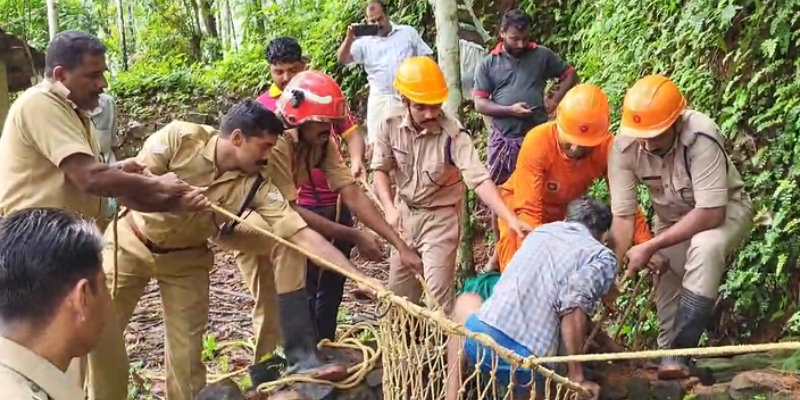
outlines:
[{"label": "dense green vegetation and trees behind the group of men", "polygon": [[[389,3],[394,22],[415,26],[433,45],[428,2]],[[93,32],[109,45],[110,91],[124,127],[192,115],[213,122],[232,100],[268,85],[263,50],[283,35],[299,39],[313,67],[333,74],[363,114],[363,72],[335,61],[346,26],[362,18],[363,6],[363,0],[61,0],[58,17],[61,29]],[[496,35],[499,16],[515,6],[534,16],[537,42],[607,92],[615,125],[626,88],[652,72],[670,75],[691,107],[717,119],[758,221],[730,260],[711,339],[768,341],[798,333],[800,0],[470,0],[459,4],[461,33]],[[0,0],[0,26],[39,49],[48,41],[46,14],[45,0]],[[479,131],[471,105],[463,110]],[[136,151],[140,138],[128,139],[125,151]],[[603,187],[596,186],[598,195]],[[484,223],[471,221],[481,239]],[[651,303],[645,295],[630,297],[620,305]],[[618,328],[628,340],[649,339],[654,322],[649,315]]]}]

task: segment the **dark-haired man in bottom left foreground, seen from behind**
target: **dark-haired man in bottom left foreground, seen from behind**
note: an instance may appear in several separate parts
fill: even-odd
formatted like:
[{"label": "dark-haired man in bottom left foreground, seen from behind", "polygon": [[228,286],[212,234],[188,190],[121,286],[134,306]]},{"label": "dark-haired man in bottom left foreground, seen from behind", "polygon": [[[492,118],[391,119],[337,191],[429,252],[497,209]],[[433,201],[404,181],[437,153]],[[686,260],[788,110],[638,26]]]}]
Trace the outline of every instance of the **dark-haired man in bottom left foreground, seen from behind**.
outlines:
[{"label": "dark-haired man in bottom left foreground, seen from behind", "polygon": [[83,400],[66,374],[98,341],[110,307],[97,227],[55,208],[0,219],[0,397]]}]

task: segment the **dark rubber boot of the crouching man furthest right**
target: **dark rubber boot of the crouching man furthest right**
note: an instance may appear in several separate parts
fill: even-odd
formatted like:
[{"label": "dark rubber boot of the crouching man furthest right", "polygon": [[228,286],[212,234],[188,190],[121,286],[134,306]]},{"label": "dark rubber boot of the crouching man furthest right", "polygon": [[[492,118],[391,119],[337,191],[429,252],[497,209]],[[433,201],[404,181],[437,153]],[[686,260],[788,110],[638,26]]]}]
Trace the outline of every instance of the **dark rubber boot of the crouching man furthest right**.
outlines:
[{"label": "dark rubber boot of the crouching man furthest right", "polygon": [[[675,338],[670,349],[695,348],[705,331],[706,323],[714,308],[715,299],[681,291],[680,304],[675,313]],[[689,356],[664,357],[658,368],[659,380],[687,379],[699,371]]]}]

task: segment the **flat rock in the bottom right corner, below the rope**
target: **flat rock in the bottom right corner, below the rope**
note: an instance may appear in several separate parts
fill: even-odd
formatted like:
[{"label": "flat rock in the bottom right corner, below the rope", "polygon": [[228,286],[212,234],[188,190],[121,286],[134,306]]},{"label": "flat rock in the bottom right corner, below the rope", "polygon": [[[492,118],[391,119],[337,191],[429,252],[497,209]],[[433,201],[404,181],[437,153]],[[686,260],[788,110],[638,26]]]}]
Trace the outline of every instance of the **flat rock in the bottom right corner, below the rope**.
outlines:
[{"label": "flat rock in the bottom right corner, below the rope", "polygon": [[[800,391],[800,380],[777,371],[748,371],[736,375],[728,393],[733,400],[765,396],[767,400],[791,400]],[[800,393],[800,392],[798,392]]]}]

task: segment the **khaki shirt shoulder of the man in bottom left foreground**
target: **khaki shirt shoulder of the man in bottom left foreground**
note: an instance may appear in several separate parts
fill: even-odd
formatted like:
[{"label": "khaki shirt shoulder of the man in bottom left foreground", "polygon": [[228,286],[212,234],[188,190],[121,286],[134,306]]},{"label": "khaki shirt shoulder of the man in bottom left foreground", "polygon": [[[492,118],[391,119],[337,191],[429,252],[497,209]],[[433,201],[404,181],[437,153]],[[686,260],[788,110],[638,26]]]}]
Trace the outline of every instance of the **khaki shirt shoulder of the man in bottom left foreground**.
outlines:
[{"label": "khaki shirt shoulder of the man in bottom left foreground", "polygon": [[83,389],[50,361],[0,337],[0,398],[84,400]]}]

